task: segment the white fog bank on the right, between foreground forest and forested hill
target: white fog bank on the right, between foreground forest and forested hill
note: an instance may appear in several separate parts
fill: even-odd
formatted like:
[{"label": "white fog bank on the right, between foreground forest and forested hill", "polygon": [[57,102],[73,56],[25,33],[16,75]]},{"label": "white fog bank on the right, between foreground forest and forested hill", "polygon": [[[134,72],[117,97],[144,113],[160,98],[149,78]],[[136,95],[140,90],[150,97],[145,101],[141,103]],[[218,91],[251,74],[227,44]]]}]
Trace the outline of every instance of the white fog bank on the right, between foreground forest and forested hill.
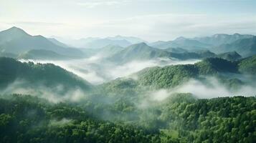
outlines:
[{"label": "white fog bank on the right, between foreground forest and forested hill", "polygon": [[188,82],[173,89],[156,90],[149,94],[149,100],[154,102],[162,102],[171,95],[177,93],[190,93],[199,99],[234,96],[252,97],[256,95],[256,84],[251,84],[254,79],[247,75],[240,75],[240,78],[244,79],[243,82],[248,84],[240,85],[240,87],[236,89],[227,87],[227,85],[220,82],[216,77],[204,78],[204,82],[199,79],[189,79]]}]

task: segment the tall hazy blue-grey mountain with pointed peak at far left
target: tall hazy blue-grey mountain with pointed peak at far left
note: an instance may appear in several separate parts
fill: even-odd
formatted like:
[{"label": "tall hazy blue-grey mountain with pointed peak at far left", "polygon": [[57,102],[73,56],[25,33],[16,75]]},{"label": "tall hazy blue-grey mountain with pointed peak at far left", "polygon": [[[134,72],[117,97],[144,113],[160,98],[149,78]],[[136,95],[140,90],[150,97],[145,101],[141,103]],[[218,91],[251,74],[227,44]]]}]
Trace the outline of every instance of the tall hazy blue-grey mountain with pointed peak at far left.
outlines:
[{"label": "tall hazy blue-grey mountain with pointed peak at far left", "polygon": [[72,58],[85,56],[79,49],[58,46],[44,36],[31,36],[17,27],[0,31],[0,39],[0,51],[5,53],[22,54],[32,49],[44,49]]}]

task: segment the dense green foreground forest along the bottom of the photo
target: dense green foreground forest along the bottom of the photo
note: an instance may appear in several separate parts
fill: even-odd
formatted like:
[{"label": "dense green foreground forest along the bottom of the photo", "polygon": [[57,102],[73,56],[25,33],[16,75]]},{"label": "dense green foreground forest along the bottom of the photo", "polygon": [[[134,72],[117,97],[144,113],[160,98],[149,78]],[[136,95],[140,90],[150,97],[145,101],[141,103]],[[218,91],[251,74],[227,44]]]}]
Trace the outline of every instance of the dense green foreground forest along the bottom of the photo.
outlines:
[{"label": "dense green foreground forest along the bottom of the photo", "polygon": [[[9,98],[0,99],[0,142],[252,143],[256,140],[255,97],[194,99],[179,95],[150,109],[138,109],[140,118],[134,124],[95,119],[85,109],[88,104],[49,104],[22,95]],[[100,106],[103,105],[95,109]]]}]

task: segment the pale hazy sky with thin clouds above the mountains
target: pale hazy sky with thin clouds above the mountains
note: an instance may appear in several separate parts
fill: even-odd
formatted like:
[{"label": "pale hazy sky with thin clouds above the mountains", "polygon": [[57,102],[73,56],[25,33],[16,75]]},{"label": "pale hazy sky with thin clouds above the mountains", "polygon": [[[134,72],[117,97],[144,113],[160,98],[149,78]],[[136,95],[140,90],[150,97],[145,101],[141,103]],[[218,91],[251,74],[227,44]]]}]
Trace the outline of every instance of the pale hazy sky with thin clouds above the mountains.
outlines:
[{"label": "pale hazy sky with thin clouds above the mountains", "polygon": [[0,0],[0,30],[148,41],[217,33],[256,34],[255,0]]}]

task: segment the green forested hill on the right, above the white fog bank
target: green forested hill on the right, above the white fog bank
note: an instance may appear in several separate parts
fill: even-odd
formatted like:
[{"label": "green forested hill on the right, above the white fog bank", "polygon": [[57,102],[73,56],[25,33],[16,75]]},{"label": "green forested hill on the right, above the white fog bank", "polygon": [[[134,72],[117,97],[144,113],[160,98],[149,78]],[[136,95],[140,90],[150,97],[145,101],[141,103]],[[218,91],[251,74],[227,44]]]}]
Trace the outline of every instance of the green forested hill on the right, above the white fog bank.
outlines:
[{"label": "green forested hill on the right, above the white fog bank", "polygon": [[[239,61],[227,61],[220,58],[208,58],[196,64],[153,67],[143,69],[136,74],[138,82],[143,86],[158,88],[175,87],[191,78],[202,76],[223,76],[222,74],[256,74],[256,56]],[[236,79],[236,77],[221,77]],[[239,79],[229,82],[237,82]]]}]

